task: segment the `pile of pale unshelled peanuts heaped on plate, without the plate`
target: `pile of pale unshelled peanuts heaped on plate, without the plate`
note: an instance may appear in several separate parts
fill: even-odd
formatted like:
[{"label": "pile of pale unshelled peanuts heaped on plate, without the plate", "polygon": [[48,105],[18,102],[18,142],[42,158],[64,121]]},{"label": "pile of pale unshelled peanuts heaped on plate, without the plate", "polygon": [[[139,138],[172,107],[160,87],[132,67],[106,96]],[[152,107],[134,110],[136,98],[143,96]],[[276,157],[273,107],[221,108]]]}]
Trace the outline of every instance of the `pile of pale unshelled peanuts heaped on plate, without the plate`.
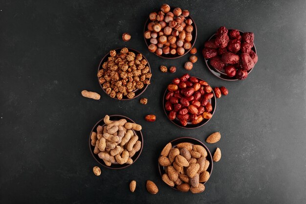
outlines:
[{"label": "pile of pale unshelled peanuts heaped on plate, without the plate", "polygon": [[141,126],[126,119],[111,121],[109,115],[104,117],[104,123],[105,126],[97,127],[97,133],[91,133],[91,145],[95,146],[93,153],[107,166],[133,163],[131,158],[140,150],[141,141],[132,130],[140,131]]}]

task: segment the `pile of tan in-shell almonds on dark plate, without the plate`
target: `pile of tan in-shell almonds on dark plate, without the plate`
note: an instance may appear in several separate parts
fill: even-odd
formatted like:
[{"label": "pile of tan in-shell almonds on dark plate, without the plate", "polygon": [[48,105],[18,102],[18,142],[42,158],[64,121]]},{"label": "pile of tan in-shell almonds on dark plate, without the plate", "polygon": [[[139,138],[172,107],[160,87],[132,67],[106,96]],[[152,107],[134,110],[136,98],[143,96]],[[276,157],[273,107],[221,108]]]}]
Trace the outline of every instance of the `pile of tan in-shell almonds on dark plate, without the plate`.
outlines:
[{"label": "pile of tan in-shell almonds on dark plate, without the plate", "polygon": [[203,192],[202,182],[210,177],[207,171],[210,162],[206,157],[207,151],[201,145],[183,142],[173,147],[168,143],[158,158],[159,164],[165,168],[162,180],[183,192]]}]

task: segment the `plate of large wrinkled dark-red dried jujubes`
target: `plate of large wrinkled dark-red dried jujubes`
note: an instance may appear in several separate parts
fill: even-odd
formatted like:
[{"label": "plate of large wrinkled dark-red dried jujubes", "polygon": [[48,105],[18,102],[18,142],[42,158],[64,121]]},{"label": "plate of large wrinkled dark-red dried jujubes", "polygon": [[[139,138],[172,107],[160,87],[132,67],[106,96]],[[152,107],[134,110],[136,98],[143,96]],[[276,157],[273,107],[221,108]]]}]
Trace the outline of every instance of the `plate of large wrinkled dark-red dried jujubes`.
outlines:
[{"label": "plate of large wrinkled dark-red dried jujubes", "polygon": [[205,42],[202,54],[207,68],[226,81],[243,80],[258,61],[254,33],[221,26]]}]

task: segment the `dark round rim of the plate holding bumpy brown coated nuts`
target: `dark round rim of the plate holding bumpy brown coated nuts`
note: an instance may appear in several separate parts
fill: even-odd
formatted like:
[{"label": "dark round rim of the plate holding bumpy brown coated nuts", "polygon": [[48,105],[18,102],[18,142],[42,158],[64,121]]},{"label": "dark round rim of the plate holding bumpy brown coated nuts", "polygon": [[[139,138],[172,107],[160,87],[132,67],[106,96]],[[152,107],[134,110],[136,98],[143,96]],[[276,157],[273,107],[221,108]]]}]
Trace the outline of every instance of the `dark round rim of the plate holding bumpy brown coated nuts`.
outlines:
[{"label": "dark round rim of the plate holding bumpy brown coated nuts", "polygon": [[[142,53],[139,52],[138,50],[136,50],[136,49],[134,49],[134,48],[130,48],[130,47],[119,47],[119,48],[115,48],[115,49],[112,49],[112,50],[116,50],[116,52],[117,52],[117,50],[121,50],[122,48],[128,48],[129,51],[131,50],[131,51],[133,51],[133,52],[136,52],[135,54],[142,54]],[[107,57],[109,57],[109,52],[108,52],[106,55],[104,55],[104,57],[101,59],[101,61],[100,61],[100,63],[99,63],[99,66],[98,66],[98,72],[99,72],[99,70],[101,69],[101,65],[104,63],[104,61],[105,61],[105,59],[106,59]],[[151,72],[150,63],[149,63],[148,59],[147,59],[143,54],[142,54],[142,57],[143,57],[145,60],[147,60],[147,62],[148,62],[147,66],[149,67],[149,73],[152,73],[152,72]],[[99,77],[97,77],[97,79],[98,79],[98,83],[99,83]],[[151,81],[151,77],[149,78],[149,80]],[[110,95],[103,89],[102,84],[99,83],[99,85],[100,85],[101,89],[110,97]],[[117,98],[117,97],[114,97],[114,99],[120,100],[120,101],[132,100],[132,99],[137,98],[138,96],[140,96],[143,92],[145,92],[149,85],[150,85],[150,84],[146,84],[146,85],[144,86],[144,88],[141,89],[141,92],[139,92],[139,93],[138,93],[137,95],[135,95],[133,98],[124,98],[124,97],[125,97],[125,96],[124,96],[121,100],[120,100],[119,98]],[[138,90],[139,90],[139,89],[136,89],[135,91],[132,91],[132,92],[136,92],[136,91],[138,91]],[[110,98],[111,98],[111,97],[110,97]]]}]

